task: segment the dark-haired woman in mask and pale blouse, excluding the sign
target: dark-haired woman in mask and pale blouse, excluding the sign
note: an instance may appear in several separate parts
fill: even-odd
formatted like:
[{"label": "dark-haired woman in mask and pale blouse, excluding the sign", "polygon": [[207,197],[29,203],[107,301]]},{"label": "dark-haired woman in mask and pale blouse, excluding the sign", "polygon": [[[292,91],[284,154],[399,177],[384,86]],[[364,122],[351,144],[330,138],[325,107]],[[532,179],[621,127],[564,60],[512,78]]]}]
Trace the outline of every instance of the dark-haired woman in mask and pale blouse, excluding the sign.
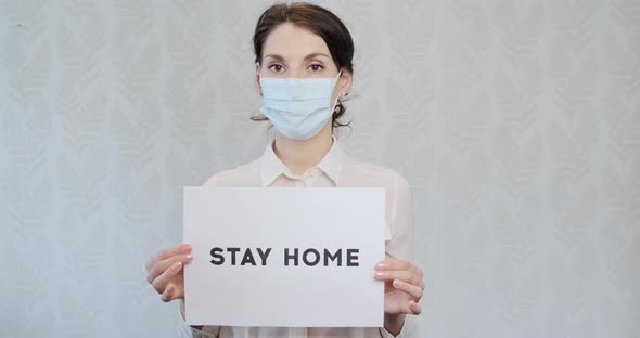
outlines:
[{"label": "dark-haired woman in mask and pale blouse, excluding the sign", "polygon": [[[422,270],[412,256],[411,196],[407,181],[391,169],[348,157],[333,138],[343,126],[342,101],[353,80],[354,43],[330,11],[308,3],[276,4],[263,13],[254,34],[255,88],[264,99],[261,116],[276,128],[273,140],[255,161],[218,173],[216,186],[384,187],[386,259],[372,269],[385,283],[384,327],[189,327],[194,337],[396,337],[407,314],[422,311]],[[286,212],[286,210],[283,210]],[[328,212],[332,212],[328,210]],[[148,281],[163,301],[184,307],[182,269],[191,261],[189,244],[167,248],[146,264]],[[327,309],[327,311],[331,311]]]}]

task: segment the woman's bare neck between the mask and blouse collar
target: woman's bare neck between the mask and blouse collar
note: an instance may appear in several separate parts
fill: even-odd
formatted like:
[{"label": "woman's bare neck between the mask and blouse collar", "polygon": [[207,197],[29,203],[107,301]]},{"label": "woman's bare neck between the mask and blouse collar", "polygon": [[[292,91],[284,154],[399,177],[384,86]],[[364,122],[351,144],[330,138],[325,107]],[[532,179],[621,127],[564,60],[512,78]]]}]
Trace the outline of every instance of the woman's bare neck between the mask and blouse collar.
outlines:
[{"label": "woman's bare neck between the mask and blouse collar", "polygon": [[273,152],[294,174],[303,174],[318,165],[333,144],[331,121],[309,140],[293,140],[276,132]]}]

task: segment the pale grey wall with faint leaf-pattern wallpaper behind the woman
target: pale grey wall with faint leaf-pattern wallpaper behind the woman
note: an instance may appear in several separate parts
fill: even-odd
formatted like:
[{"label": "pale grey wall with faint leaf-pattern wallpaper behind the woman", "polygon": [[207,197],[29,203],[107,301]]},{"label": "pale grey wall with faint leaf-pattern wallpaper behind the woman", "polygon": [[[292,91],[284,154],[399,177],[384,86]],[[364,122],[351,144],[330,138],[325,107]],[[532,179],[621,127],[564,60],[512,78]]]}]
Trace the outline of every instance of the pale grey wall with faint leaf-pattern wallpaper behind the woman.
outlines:
[{"label": "pale grey wall with faint leaf-pattern wallpaper behind the woman", "polygon": [[[1,2],[2,336],[176,335],[143,263],[264,148],[269,3]],[[340,139],[414,192],[418,336],[639,337],[640,2],[320,3],[357,48]]]}]

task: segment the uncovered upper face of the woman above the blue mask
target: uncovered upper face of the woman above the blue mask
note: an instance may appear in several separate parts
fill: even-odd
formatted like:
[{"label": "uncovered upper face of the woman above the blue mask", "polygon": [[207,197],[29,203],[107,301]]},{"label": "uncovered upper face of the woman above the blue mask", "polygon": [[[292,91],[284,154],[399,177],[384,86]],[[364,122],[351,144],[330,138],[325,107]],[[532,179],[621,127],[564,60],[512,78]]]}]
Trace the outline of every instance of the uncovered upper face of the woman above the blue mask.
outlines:
[{"label": "uncovered upper face of the woman above the blue mask", "polygon": [[[321,37],[291,23],[276,27],[263,46],[254,84],[261,95],[260,78],[335,78],[337,66]],[[331,102],[351,89],[351,74],[343,69]]]}]

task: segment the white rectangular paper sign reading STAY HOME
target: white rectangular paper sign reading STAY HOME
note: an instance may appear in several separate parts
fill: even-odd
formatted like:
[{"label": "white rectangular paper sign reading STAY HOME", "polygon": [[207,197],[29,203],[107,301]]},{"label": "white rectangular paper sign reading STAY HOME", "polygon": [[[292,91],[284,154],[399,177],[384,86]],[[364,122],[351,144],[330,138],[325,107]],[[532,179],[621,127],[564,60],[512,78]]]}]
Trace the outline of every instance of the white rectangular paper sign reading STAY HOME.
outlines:
[{"label": "white rectangular paper sign reading STAY HOME", "polygon": [[190,325],[380,327],[382,188],[184,187]]}]

